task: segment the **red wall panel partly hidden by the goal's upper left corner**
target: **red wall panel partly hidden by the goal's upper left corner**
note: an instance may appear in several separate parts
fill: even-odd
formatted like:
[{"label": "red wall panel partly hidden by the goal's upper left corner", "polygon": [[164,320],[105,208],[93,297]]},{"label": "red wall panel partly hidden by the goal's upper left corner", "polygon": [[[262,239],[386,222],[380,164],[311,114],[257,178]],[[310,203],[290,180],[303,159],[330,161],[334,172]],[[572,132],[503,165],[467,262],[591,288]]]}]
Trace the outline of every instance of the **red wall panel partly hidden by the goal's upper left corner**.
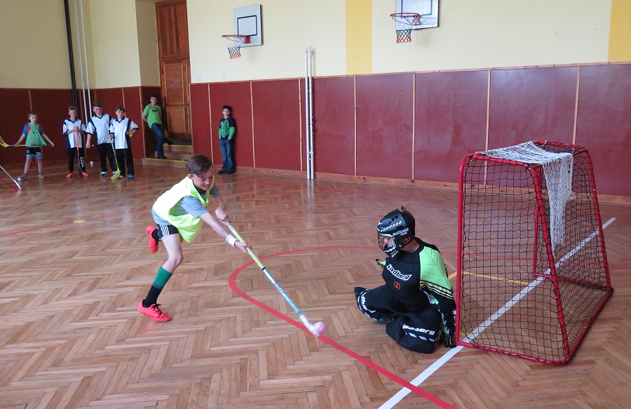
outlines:
[{"label": "red wall panel partly hidden by the goal's upper left corner", "polygon": [[466,154],[484,150],[487,71],[416,74],[414,179],[454,182]]}]

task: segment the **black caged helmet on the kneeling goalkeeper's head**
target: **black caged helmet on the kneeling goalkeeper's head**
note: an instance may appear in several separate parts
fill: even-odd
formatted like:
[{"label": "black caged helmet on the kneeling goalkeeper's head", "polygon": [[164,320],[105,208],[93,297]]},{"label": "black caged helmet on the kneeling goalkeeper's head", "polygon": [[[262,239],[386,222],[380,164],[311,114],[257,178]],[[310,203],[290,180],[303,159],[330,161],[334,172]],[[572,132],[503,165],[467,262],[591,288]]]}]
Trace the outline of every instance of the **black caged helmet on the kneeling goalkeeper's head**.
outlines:
[{"label": "black caged helmet on the kneeling goalkeeper's head", "polygon": [[414,216],[403,206],[384,216],[377,224],[379,248],[390,257],[395,257],[400,248],[414,241]]}]

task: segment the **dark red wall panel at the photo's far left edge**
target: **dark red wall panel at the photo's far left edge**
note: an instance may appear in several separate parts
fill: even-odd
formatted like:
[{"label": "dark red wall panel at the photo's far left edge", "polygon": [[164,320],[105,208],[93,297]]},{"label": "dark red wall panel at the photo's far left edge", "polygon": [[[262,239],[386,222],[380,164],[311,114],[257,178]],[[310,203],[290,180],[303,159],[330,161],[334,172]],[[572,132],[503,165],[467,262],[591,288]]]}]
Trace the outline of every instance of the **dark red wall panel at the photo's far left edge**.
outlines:
[{"label": "dark red wall panel at the photo's far left edge", "polygon": [[[9,145],[18,142],[24,124],[29,121],[27,113],[30,110],[29,90],[0,88],[0,112],[2,112],[0,136],[4,142]],[[23,165],[25,159],[24,149],[0,147],[0,164],[3,166],[13,163],[22,163]],[[4,177],[4,173],[2,175],[1,177]]]}]

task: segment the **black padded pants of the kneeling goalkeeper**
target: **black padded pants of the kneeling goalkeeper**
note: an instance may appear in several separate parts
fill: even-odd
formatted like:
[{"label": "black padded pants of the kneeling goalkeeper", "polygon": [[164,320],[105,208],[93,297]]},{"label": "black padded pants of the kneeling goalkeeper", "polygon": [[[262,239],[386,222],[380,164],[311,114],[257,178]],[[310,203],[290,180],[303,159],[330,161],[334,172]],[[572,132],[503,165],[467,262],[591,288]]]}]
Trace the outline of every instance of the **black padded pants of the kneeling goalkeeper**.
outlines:
[{"label": "black padded pants of the kneeling goalkeeper", "polygon": [[405,311],[396,296],[385,284],[374,290],[355,288],[360,311],[375,321],[386,323],[386,334],[393,340],[406,349],[432,353],[442,327],[440,312],[431,304],[421,311]]}]

